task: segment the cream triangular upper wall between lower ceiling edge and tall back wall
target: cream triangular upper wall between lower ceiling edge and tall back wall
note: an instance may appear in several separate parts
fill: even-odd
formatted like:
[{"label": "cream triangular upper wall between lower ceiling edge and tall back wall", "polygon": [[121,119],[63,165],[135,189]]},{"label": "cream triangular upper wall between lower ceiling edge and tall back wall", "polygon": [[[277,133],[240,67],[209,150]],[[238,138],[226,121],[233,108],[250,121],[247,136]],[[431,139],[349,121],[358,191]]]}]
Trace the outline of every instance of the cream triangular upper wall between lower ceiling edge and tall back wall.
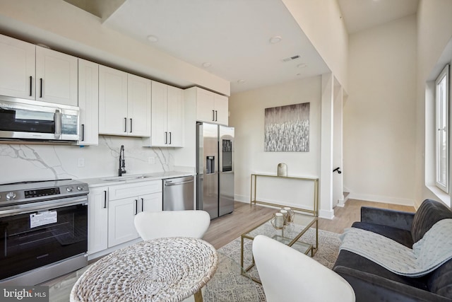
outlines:
[{"label": "cream triangular upper wall between lower ceiling edge and tall back wall", "polygon": [[348,33],[337,1],[282,0],[341,86],[348,90]]}]

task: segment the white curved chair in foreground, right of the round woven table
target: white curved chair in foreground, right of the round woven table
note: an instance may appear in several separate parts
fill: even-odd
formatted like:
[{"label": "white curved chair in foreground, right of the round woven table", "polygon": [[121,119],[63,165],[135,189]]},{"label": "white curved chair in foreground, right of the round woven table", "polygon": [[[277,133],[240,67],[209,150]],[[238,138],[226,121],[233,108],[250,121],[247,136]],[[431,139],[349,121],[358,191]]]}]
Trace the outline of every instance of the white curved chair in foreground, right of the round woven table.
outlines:
[{"label": "white curved chair in foreground, right of the round woven table", "polygon": [[253,255],[267,302],[355,301],[343,277],[283,243],[256,236]]}]

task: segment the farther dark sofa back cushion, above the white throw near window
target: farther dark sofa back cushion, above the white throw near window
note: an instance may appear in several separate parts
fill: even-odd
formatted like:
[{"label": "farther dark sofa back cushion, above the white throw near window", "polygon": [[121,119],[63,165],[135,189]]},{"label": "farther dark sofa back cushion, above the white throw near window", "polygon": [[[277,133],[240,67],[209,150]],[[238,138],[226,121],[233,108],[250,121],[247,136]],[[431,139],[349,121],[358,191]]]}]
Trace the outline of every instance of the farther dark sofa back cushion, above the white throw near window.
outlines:
[{"label": "farther dark sofa back cushion, above the white throw near window", "polygon": [[425,199],[417,209],[412,221],[412,241],[420,240],[436,222],[446,218],[452,218],[452,211],[445,204],[432,199]]}]

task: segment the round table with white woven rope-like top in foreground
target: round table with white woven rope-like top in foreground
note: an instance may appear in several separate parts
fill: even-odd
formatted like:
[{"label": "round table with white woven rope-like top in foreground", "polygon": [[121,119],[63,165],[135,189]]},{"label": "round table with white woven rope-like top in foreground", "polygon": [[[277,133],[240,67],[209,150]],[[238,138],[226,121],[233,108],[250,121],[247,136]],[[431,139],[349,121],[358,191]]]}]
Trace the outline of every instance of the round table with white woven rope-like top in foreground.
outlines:
[{"label": "round table with white woven rope-like top in foreground", "polygon": [[196,238],[156,238],[116,250],[95,262],[74,284],[71,302],[183,301],[215,274],[218,253]]}]

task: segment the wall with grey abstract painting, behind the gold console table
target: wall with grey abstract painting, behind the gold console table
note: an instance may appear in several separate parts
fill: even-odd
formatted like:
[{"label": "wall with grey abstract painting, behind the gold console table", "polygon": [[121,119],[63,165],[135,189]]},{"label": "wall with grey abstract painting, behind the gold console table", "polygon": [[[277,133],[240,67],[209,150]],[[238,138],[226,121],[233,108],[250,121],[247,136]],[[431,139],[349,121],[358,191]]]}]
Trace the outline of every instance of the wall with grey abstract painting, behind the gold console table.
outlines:
[{"label": "wall with grey abstract painting, behind the gold console table", "polygon": [[[265,108],[307,102],[310,103],[309,152],[264,152]],[[320,110],[320,76],[231,95],[229,124],[235,127],[236,200],[249,202],[251,173],[275,175],[278,163],[287,164],[290,176],[320,176]],[[296,188],[293,186],[292,191],[276,192],[279,195],[275,198],[281,200],[292,196],[294,199],[299,194],[293,191]]]}]

